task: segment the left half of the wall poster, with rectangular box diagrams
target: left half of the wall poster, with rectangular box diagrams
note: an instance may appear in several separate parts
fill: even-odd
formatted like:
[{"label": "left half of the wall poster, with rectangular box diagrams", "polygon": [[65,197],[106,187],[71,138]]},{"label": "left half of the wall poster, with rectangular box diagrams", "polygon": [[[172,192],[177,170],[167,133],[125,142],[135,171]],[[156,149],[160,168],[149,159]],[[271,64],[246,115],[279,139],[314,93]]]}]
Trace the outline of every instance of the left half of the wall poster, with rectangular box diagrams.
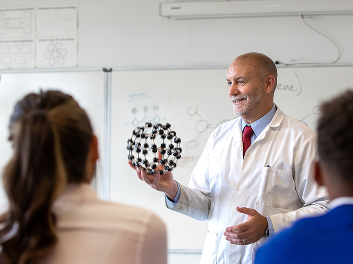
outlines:
[{"label": "left half of the wall poster, with rectangular box diagrams", "polygon": [[35,9],[0,8],[0,69],[34,68]]}]

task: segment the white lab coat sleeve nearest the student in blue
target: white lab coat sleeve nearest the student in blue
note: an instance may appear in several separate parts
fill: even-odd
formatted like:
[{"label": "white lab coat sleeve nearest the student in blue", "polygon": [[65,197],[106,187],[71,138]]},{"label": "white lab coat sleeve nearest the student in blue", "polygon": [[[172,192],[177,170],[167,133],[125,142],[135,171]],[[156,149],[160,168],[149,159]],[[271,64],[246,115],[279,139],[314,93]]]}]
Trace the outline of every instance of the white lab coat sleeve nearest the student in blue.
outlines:
[{"label": "white lab coat sleeve nearest the student in blue", "polygon": [[329,202],[327,191],[318,186],[313,176],[316,151],[316,136],[313,135],[301,145],[293,165],[295,189],[303,207],[292,212],[270,215],[275,234],[300,218],[327,212]]}]

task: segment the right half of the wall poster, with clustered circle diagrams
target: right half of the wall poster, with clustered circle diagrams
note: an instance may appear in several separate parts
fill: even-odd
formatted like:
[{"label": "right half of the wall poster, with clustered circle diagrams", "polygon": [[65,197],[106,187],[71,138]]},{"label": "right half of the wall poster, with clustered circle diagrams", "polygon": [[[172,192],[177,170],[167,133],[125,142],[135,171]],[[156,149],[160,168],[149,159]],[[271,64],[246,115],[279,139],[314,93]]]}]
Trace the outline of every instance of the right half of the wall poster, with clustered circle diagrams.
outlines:
[{"label": "right half of the wall poster, with clustered circle diagrams", "polygon": [[37,8],[37,68],[77,66],[77,5]]}]

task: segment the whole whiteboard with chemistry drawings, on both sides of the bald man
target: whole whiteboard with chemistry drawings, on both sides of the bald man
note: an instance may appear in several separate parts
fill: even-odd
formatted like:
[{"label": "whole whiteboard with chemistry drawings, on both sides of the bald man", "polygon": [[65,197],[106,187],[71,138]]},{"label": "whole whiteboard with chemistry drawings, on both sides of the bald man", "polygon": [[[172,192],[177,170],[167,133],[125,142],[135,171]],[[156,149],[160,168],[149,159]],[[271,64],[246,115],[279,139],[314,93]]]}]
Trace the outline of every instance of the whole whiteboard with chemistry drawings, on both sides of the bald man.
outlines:
[{"label": "whole whiteboard with chemistry drawings, on both sides of the bald man", "polygon": [[[315,131],[324,99],[352,87],[352,67],[279,68],[275,103]],[[113,71],[110,198],[154,211],[167,224],[169,250],[201,250],[207,221],[173,212],[161,192],[127,164],[127,139],[145,121],[169,122],[181,138],[174,178],[187,184],[213,129],[237,117],[228,97],[227,69]],[[239,224],[239,223],[234,223]]]}]

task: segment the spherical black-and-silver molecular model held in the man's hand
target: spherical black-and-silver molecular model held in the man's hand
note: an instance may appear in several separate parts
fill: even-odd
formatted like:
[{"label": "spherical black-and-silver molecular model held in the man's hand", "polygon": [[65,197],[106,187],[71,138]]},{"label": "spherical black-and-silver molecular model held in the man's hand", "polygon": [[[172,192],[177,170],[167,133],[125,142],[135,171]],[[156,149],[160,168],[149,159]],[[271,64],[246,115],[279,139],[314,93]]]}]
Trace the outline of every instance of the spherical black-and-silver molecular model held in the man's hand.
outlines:
[{"label": "spherical black-and-silver molecular model held in the man's hand", "polygon": [[[170,140],[168,146],[166,139]],[[170,129],[170,124],[152,125],[146,122],[144,126],[136,127],[132,131],[132,137],[127,140],[126,148],[129,152],[127,158],[131,160],[132,165],[143,169],[148,174],[155,174],[159,163],[163,166],[163,170],[157,171],[162,175],[163,171],[171,171],[177,166],[177,161],[181,158],[180,142],[181,139],[177,137],[177,133]],[[133,152],[137,153],[137,157]],[[160,159],[157,157],[158,152]]]}]

